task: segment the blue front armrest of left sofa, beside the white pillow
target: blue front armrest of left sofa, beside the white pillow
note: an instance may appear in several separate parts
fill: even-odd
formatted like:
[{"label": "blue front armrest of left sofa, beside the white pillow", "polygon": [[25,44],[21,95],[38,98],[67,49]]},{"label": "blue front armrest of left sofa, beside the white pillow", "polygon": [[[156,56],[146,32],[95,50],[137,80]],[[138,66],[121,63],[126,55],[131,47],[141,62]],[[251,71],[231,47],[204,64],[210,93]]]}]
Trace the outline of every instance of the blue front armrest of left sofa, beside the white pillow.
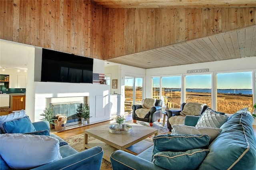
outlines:
[{"label": "blue front armrest of left sofa, beside the white pillow", "polygon": [[100,170],[103,149],[99,146],[72,154],[33,170]]}]

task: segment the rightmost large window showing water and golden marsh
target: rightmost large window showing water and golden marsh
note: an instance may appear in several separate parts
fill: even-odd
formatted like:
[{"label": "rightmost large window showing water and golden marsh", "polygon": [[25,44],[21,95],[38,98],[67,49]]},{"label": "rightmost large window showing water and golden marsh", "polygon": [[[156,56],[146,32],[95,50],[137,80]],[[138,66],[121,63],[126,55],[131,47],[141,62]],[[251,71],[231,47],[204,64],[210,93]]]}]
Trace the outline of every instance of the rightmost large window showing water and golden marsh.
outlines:
[{"label": "rightmost large window showing water and golden marsh", "polygon": [[236,113],[248,107],[253,111],[252,72],[232,72],[217,74],[217,110]]}]

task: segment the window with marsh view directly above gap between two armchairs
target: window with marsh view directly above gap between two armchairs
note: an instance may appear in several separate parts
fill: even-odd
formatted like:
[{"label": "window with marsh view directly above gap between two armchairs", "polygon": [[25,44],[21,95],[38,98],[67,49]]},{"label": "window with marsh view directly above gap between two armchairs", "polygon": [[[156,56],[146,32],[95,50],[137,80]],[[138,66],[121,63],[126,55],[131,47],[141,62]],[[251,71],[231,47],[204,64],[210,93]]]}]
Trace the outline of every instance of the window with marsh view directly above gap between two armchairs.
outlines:
[{"label": "window with marsh view directly above gap between two armchairs", "polygon": [[181,76],[162,77],[162,99],[171,108],[180,108]]}]

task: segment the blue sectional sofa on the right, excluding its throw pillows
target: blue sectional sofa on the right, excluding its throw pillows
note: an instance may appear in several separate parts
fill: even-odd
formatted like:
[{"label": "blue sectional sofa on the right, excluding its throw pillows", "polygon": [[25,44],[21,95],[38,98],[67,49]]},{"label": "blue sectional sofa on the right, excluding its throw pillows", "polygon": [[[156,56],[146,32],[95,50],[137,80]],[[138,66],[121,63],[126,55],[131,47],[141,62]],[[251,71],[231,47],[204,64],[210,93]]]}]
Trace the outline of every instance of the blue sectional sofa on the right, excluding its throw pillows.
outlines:
[{"label": "blue sectional sofa on the right, excluding its throw pillows", "polygon": [[[185,125],[195,126],[199,118],[200,117],[198,116],[186,116]],[[205,152],[206,156],[202,159],[202,161],[194,162],[198,164],[198,167],[192,168],[191,165],[194,163],[191,163],[185,166],[183,169],[256,170],[256,137],[252,127],[252,122],[253,117],[247,108],[241,109],[232,114],[220,127],[222,132],[206,148],[208,150]],[[174,135],[166,134],[158,135],[154,138],[166,137],[166,139],[170,139],[172,136]],[[187,144],[191,145],[192,142],[188,142]],[[163,158],[162,162],[157,162],[157,164],[160,166],[158,166],[156,163],[152,163],[154,162],[152,161],[154,147],[168,147],[172,145],[174,145],[174,143],[168,143],[167,140],[165,143],[163,141],[154,143],[152,147],[138,154],[137,156],[122,150],[117,150],[110,156],[113,170],[182,169],[179,167],[186,164],[189,158],[180,160],[178,165],[177,163],[170,163],[171,161],[166,161],[171,159],[171,157],[168,156]]]}]

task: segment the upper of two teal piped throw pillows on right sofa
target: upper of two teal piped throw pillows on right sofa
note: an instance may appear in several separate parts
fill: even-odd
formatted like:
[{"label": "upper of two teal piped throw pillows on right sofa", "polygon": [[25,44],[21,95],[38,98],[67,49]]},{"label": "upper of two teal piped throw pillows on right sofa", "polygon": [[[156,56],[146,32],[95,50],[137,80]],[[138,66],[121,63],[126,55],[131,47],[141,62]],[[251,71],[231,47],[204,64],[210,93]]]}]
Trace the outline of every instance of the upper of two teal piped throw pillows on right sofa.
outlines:
[{"label": "upper of two teal piped throw pillows on right sofa", "polygon": [[164,134],[153,137],[153,155],[157,152],[185,152],[190,149],[205,149],[210,137],[207,134]]}]

